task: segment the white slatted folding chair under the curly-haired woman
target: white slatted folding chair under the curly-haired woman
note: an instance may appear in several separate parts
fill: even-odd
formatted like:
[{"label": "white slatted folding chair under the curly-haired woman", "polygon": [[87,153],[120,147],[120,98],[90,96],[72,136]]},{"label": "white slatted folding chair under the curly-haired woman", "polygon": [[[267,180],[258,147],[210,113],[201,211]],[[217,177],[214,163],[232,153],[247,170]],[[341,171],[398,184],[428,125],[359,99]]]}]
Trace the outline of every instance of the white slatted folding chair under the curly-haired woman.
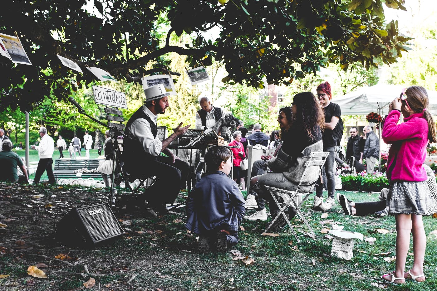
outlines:
[{"label": "white slatted folding chair under the curly-haired woman", "polygon": [[[309,225],[308,221],[306,220],[305,216],[302,214],[300,207],[301,207],[302,203],[308,199],[309,195],[313,193],[312,189],[316,185],[317,180],[312,182],[312,184],[310,185],[311,190],[308,192],[301,192],[300,188],[302,186],[302,181],[304,180],[305,175],[308,172],[310,167],[318,167],[318,173],[320,175],[320,171],[322,170],[322,167],[325,164],[326,157],[328,155],[329,155],[329,152],[311,152],[309,154],[309,160],[306,161],[304,164],[305,170],[304,170],[303,175],[299,181],[298,187],[296,188],[295,191],[284,190],[281,188],[271,187],[271,186],[263,186],[270,192],[270,194],[272,195],[272,197],[273,197],[273,199],[274,199],[274,201],[277,204],[277,207],[279,209],[279,213],[273,218],[273,220],[267,226],[267,229],[265,230],[265,232],[268,232],[268,230],[271,228],[271,226],[274,224],[274,222],[279,218],[280,215],[282,215],[284,217],[285,221],[287,222],[288,226],[290,227],[291,232],[293,232],[297,242],[299,243],[300,236],[298,236],[296,234],[295,230],[291,226],[290,222],[288,221],[287,216],[284,213],[285,209],[287,209],[288,207],[293,207],[293,208],[295,208],[297,214],[303,220],[305,225],[309,228],[309,233],[305,233],[301,236],[305,236],[308,234],[312,238],[315,238],[314,231],[312,230],[312,228]],[[303,195],[305,195],[305,197],[302,198]],[[278,201],[277,197],[280,197],[281,201]]]}]

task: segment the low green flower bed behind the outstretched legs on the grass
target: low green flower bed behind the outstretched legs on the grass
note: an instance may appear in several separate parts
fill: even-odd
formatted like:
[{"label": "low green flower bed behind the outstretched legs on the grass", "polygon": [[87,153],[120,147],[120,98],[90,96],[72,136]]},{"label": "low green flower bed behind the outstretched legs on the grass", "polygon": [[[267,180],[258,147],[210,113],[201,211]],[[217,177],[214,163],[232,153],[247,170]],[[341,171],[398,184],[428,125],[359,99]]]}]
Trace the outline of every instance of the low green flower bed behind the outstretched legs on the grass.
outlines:
[{"label": "low green flower bed behind the outstretched legs on the grass", "polygon": [[357,174],[341,174],[341,189],[348,191],[379,192],[388,188],[388,180],[385,173],[375,172],[369,174],[361,172]]}]

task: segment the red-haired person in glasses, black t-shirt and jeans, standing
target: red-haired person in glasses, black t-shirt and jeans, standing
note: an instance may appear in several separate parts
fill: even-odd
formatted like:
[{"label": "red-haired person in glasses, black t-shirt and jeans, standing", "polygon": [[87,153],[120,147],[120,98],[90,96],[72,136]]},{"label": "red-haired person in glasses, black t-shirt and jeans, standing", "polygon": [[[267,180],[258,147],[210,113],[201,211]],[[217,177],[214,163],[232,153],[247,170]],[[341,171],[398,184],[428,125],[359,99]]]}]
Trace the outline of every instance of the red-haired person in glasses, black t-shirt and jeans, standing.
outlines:
[{"label": "red-haired person in glasses, black t-shirt and jeans, standing", "polygon": [[335,146],[339,139],[336,127],[339,126],[341,116],[340,106],[331,102],[331,85],[328,82],[317,86],[317,98],[320,106],[325,112],[325,129],[323,130],[323,151],[329,152],[324,165],[323,177],[326,176],[328,181],[328,198],[323,202],[323,184],[316,185],[316,196],[314,197],[314,208],[327,211],[335,203],[335,177],[334,177],[334,159]]}]

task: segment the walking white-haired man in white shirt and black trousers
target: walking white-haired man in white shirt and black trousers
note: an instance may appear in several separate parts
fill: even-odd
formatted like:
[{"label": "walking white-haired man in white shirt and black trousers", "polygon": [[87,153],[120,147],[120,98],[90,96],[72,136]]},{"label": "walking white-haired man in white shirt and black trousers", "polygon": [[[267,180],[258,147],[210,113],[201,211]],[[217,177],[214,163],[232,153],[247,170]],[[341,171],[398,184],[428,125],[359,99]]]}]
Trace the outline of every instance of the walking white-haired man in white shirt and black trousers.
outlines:
[{"label": "walking white-haired man in white shirt and black trousers", "polygon": [[50,135],[47,134],[47,128],[39,128],[39,136],[41,136],[41,141],[39,145],[32,145],[32,149],[38,151],[39,162],[36,168],[35,178],[33,179],[33,184],[37,185],[41,175],[44,171],[47,171],[47,176],[49,176],[49,183],[52,185],[56,184],[55,176],[53,175],[53,152],[55,149],[54,141]]}]

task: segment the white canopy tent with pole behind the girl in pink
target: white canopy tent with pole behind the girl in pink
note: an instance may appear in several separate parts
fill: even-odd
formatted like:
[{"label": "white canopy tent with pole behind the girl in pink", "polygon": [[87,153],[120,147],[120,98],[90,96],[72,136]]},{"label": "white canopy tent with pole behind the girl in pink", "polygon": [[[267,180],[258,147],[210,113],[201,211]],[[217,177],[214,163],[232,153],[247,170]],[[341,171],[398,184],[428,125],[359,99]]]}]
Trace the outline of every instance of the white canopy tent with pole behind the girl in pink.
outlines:
[{"label": "white canopy tent with pole behind the girl in pink", "polygon": [[[342,115],[367,115],[370,112],[377,112],[384,118],[385,114],[388,114],[388,105],[392,103],[393,99],[401,95],[402,89],[405,87],[408,86],[378,84],[348,93],[334,99],[333,102],[340,105]],[[437,92],[430,90],[427,92],[430,99],[428,110],[431,114],[437,115]],[[381,144],[381,131],[378,132]],[[381,152],[378,164],[379,170],[381,170]]]}]

